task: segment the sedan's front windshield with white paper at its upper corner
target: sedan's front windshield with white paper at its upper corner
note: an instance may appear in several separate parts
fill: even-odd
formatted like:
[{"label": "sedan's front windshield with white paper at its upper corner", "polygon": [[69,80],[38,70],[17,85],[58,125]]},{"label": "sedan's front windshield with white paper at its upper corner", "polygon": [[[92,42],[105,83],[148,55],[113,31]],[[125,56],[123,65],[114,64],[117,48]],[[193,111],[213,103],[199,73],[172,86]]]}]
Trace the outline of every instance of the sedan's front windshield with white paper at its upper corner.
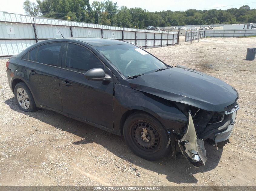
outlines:
[{"label": "sedan's front windshield with white paper at its upper corner", "polygon": [[96,46],[125,77],[156,72],[170,66],[132,44]]}]

